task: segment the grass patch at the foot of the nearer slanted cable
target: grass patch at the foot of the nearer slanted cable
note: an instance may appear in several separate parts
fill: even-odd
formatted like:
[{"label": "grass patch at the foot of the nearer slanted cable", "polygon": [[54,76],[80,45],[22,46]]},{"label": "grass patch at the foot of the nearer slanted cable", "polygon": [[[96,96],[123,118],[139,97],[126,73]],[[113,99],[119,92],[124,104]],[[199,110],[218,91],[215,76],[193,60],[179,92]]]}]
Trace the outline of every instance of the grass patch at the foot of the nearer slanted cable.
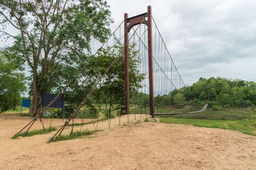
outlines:
[{"label": "grass patch at the foot of the nearer slanted cable", "polygon": [[90,131],[90,130],[84,130],[84,131],[75,131],[72,134],[68,135],[60,135],[52,139],[53,142],[57,142],[60,140],[74,140],[76,138],[81,138],[82,136],[88,136],[92,135],[95,131]]}]

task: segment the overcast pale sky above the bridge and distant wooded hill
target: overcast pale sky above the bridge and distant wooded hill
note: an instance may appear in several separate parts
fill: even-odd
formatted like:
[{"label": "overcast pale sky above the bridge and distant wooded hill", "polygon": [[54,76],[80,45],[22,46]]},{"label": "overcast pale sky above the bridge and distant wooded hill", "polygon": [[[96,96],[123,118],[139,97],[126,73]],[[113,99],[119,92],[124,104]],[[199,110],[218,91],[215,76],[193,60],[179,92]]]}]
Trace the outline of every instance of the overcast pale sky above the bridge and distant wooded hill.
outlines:
[{"label": "overcast pale sky above the bridge and distant wooded hill", "polygon": [[256,81],[256,0],[107,0],[114,30],[147,12],[171,52],[185,84],[200,77]]}]

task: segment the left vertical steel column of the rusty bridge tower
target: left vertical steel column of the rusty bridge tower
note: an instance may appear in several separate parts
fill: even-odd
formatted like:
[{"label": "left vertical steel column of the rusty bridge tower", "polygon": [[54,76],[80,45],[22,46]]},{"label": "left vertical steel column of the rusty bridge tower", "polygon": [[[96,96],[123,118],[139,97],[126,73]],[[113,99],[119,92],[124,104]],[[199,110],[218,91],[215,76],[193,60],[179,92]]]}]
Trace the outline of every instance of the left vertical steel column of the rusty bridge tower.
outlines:
[{"label": "left vertical steel column of the rusty bridge tower", "polygon": [[128,14],[125,14],[125,114],[129,114],[129,34],[127,27]]}]

